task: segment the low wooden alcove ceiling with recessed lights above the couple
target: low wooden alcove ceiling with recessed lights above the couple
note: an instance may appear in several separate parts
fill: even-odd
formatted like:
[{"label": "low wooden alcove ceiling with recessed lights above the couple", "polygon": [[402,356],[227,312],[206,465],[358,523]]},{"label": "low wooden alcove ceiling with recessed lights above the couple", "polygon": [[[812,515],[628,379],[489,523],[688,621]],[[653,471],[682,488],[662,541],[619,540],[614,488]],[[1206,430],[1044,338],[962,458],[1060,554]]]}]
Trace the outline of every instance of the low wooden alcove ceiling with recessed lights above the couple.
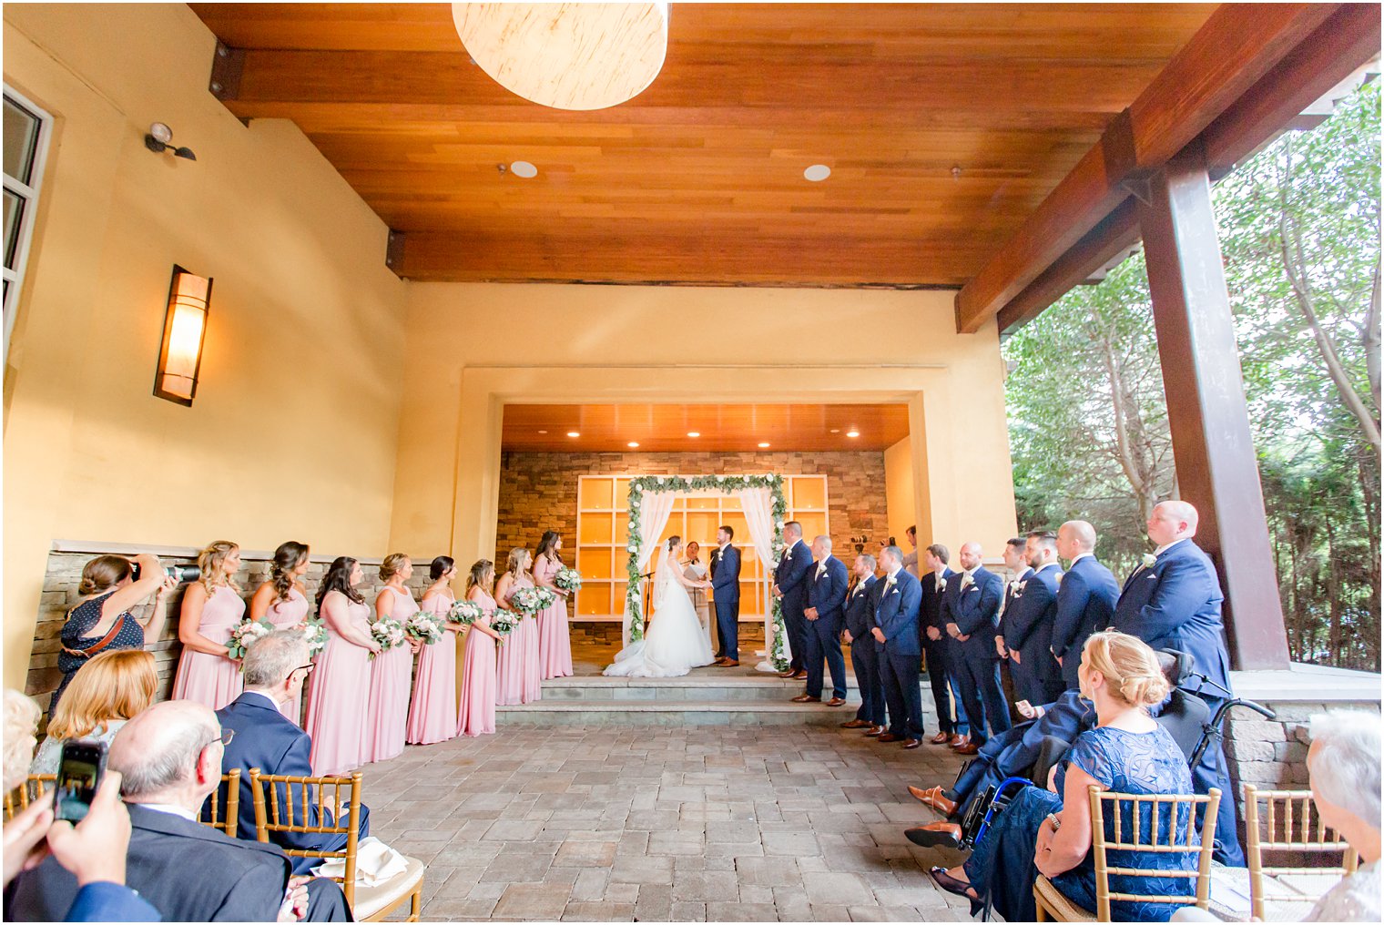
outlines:
[{"label": "low wooden alcove ceiling with recessed lights above the couple", "polygon": [[905,404],[507,404],[501,447],[527,453],[884,450],[907,436]]}]

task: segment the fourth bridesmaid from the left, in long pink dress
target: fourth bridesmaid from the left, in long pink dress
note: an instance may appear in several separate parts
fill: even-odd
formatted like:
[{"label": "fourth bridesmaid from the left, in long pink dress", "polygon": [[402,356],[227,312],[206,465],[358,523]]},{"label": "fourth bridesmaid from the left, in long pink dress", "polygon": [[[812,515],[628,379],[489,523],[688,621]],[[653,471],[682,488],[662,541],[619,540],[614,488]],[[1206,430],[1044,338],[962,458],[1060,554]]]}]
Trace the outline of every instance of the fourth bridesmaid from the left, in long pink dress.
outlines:
[{"label": "fourth bridesmaid from the left, in long pink dress", "polygon": [[[399,620],[400,626],[418,612],[412,593],[404,587],[414,573],[414,564],[403,553],[390,553],[379,565],[379,589],[375,619]],[[414,652],[421,644],[412,637],[407,645],[381,652],[370,676],[370,719],[365,734],[365,760],[388,762],[403,753],[408,730],[408,691],[414,680]]]}]

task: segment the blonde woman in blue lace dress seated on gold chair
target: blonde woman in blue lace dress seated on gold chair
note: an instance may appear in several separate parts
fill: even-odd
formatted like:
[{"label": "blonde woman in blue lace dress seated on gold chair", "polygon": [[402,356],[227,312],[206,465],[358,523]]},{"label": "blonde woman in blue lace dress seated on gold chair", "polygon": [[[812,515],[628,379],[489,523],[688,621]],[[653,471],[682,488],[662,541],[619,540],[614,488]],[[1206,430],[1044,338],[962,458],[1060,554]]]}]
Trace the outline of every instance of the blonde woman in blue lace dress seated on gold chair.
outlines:
[{"label": "blonde woman in blue lace dress seated on gold chair", "polygon": [[[1187,760],[1172,737],[1149,716],[1149,708],[1163,702],[1168,681],[1158,670],[1153,649],[1124,633],[1096,633],[1086,640],[1081,654],[1081,691],[1096,708],[1096,727],[1077,738],[1067,753],[1066,774],[1059,771],[1056,787],[1062,796],[1038,787],[1026,787],[1001,813],[976,845],[970,859],[959,867],[930,872],[943,889],[967,896],[980,906],[988,893],[995,911],[1005,921],[1034,921],[1034,881],[1048,877],[1067,899],[1086,910],[1096,907],[1095,868],[1091,857],[1091,800],[1086,789],[1096,785],[1118,793],[1192,793]],[[1063,780],[1064,778],[1064,780]],[[1120,818],[1106,820],[1107,838],[1116,825],[1133,831],[1129,805],[1120,807]],[[1145,814],[1140,824],[1147,831],[1153,820]],[[1169,831],[1174,839],[1185,838],[1186,807],[1171,818],[1157,818],[1160,842]],[[1142,867],[1190,872],[1196,868],[1193,853],[1113,852],[1111,867]],[[1185,877],[1147,878],[1110,875],[1110,890],[1135,895],[1183,893]],[[1116,921],[1167,921],[1174,907],[1167,903],[1116,900]]]}]

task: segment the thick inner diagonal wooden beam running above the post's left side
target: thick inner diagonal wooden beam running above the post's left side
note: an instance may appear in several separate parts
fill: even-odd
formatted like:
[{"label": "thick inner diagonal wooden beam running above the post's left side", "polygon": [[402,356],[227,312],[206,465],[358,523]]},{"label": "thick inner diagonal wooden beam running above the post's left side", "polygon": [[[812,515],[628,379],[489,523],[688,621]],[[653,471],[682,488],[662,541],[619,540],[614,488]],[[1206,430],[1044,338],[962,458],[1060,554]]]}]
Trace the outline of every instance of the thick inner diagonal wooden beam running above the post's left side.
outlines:
[{"label": "thick inner diagonal wooden beam running above the post's left side", "polygon": [[1223,4],[1116,119],[1013,238],[956,295],[974,332],[1075,245],[1147,176],[1190,144],[1340,4]]}]

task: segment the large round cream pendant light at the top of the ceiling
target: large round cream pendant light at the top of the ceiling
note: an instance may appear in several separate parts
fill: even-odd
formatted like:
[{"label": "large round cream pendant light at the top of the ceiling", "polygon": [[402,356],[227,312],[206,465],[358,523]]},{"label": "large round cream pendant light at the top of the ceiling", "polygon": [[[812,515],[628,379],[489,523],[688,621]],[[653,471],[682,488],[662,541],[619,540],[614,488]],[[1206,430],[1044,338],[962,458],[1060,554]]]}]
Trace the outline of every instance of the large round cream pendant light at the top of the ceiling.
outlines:
[{"label": "large round cream pendant light at the top of the ceiling", "polygon": [[666,3],[454,3],[482,71],[555,109],[605,109],[653,83],[668,48]]}]

